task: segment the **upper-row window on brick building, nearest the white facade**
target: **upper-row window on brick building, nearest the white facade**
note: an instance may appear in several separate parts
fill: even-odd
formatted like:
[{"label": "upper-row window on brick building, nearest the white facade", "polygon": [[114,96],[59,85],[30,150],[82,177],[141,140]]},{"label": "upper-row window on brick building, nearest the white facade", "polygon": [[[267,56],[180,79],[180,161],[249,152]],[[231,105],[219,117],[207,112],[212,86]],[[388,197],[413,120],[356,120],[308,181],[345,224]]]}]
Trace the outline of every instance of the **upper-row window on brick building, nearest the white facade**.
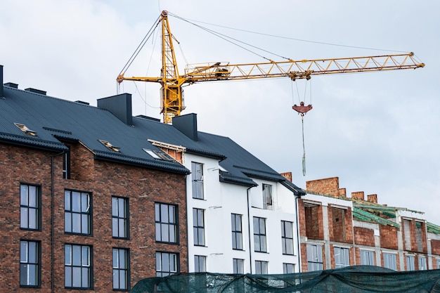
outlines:
[{"label": "upper-row window on brick building, nearest the white facade", "polygon": [[177,206],[155,203],[155,226],[157,242],[178,242]]}]

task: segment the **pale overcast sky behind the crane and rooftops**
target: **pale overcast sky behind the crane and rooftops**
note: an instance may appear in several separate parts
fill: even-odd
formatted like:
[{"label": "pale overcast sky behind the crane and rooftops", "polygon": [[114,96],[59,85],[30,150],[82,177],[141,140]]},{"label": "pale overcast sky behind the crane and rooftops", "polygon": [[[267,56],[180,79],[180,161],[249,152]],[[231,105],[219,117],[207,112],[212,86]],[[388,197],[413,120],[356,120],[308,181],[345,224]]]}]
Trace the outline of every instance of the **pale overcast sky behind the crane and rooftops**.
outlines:
[{"label": "pale overcast sky behind the crane and rooftops", "polygon": [[[200,131],[292,171],[302,188],[337,176],[348,195],[377,194],[440,225],[439,1],[0,0],[4,82],[96,105],[116,94],[117,74],[162,10],[293,60],[413,51],[425,68],[194,84],[185,88],[184,113],[198,114]],[[181,73],[186,63],[265,61],[178,18],[169,23]],[[152,37],[126,76],[160,76],[159,50]],[[133,95],[134,115],[157,118],[159,89],[121,86]],[[292,110],[299,100],[313,105],[304,117],[306,176],[301,117]]]}]

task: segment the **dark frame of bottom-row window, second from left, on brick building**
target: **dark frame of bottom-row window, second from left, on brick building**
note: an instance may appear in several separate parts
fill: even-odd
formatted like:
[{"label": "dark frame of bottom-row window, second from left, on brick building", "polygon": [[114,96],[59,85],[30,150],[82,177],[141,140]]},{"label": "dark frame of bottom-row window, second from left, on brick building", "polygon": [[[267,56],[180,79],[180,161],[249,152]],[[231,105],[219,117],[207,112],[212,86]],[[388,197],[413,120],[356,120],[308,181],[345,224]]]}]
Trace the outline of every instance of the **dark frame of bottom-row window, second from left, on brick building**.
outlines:
[{"label": "dark frame of bottom-row window, second from left, on brick building", "polygon": [[[69,263],[67,263],[67,247],[70,247],[70,255],[69,255]],[[74,259],[75,257],[73,256],[74,254],[74,247],[79,247],[79,252],[80,252],[80,264],[79,265],[74,265]],[[87,261],[88,261],[88,265],[86,263],[83,264],[83,248],[87,248],[88,251],[88,255],[87,255]],[[77,258],[76,258],[77,259]],[[70,286],[67,286],[67,268],[70,268]],[[74,268],[80,268],[81,271],[81,286],[73,286],[73,282],[74,282]],[[86,268],[88,269],[87,275],[86,277],[88,278],[88,282],[89,282],[89,287],[85,287],[83,286],[83,269]],[[79,245],[79,244],[73,244],[73,243],[66,243],[64,245],[64,287],[66,289],[93,289],[93,246],[92,245]]]}]

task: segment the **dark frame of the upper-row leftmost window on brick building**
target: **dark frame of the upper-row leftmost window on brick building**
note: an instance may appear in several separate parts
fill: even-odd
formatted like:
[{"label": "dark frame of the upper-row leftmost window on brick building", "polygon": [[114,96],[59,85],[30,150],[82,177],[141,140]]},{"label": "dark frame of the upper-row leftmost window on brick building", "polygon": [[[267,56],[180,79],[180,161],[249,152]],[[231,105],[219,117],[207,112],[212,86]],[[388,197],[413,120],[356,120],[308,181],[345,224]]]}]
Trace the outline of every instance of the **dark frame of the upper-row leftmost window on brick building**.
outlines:
[{"label": "dark frame of the upper-row leftmost window on brick building", "polygon": [[[26,187],[26,203],[23,203],[22,200],[22,187]],[[34,206],[30,205],[30,187],[35,188],[35,199],[34,199]],[[27,211],[25,211],[25,209]],[[35,215],[32,216],[32,219],[35,221],[35,228],[29,228],[30,227],[30,209],[34,210]],[[23,216],[26,214],[26,221],[27,223],[24,224],[22,221]],[[33,230],[33,231],[41,231],[41,185],[39,184],[31,184],[31,183],[20,183],[20,230]]]}]

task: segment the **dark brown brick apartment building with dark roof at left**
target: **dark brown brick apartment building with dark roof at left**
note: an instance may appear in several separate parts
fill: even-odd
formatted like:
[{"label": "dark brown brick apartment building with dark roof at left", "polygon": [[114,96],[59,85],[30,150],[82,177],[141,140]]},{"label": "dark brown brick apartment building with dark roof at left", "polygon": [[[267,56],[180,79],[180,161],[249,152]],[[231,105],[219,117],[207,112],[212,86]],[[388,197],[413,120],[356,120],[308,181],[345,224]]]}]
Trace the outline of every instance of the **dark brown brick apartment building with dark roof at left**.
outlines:
[{"label": "dark brown brick apartment building with dark roof at left", "polygon": [[162,152],[129,95],[91,107],[4,85],[2,69],[0,291],[129,291],[188,271],[189,170],[148,155]]}]

